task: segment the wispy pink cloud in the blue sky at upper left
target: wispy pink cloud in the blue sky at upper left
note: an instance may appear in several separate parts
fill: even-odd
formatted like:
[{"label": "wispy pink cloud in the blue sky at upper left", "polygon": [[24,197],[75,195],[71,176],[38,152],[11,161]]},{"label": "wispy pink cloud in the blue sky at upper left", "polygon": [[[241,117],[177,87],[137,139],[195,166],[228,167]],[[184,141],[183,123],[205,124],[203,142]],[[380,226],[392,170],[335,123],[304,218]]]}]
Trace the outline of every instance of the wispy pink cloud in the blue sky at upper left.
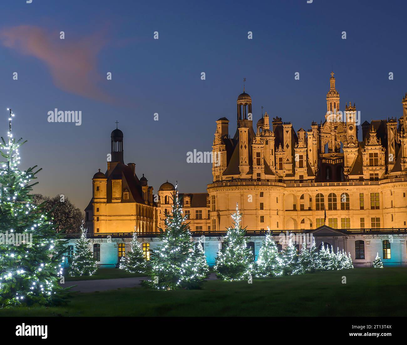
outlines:
[{"label": "wispy pink cloud in the blue sky at upper left", "polygon": [[[107,43],[100,35],[88,35],[79,40],[59,39],[59,32],[46,32],[31,25],[20,25],[0,31],[4,46],[24,55],[34,56],[50,69],[55,86],[84,97],[113,102],[98,82],[97,55]],[[104,74],[105,76],[106,74]]]}]

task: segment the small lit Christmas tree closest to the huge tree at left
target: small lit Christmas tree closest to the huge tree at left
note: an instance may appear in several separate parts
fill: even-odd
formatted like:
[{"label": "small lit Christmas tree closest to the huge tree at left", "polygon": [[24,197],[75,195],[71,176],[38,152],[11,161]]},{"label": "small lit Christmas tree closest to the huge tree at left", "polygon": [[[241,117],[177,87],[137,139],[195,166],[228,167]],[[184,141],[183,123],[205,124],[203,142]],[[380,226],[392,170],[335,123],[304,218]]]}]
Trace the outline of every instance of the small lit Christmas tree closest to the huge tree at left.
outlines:
[{"label": "small lit Christmas tree closest to the huge tree at left", "polygon": [[69,266],[70,276],[91,276],[98,270],[97,261],[90,249],[90,240],[86,238],[86,229],[81,225],[81,236],[76,244],[72,263]]}]

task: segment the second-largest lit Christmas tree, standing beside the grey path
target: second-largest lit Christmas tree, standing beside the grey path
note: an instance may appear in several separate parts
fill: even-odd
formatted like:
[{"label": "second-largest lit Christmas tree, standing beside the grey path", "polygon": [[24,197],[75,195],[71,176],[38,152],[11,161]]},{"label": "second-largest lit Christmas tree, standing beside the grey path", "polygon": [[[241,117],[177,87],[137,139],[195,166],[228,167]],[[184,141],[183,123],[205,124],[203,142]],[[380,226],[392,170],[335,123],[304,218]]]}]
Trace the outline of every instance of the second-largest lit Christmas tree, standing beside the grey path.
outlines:
[{"label": "second-largest lit Christmas tree, standing beside the grey path", "polygon": [[185,221],[176,185],[172,215],[166,214],[166,229],[160,229],[162,244],[151,254],[151,280],[144,281],[144,285],[164,290],[197,288],[206,278],[195,260],[194,243]]}]

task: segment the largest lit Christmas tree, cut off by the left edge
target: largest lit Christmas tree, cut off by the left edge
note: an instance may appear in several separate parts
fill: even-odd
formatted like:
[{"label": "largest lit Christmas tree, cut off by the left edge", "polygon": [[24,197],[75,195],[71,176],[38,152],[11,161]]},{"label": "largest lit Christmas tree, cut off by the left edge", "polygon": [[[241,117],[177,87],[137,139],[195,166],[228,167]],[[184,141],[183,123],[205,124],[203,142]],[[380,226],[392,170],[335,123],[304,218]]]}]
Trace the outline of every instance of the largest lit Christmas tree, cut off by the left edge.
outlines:
[{"label": "largest lit Christmas tree, cut off by the left edge", "polygon": [[[0,307],[61,303],[66,291],[58,284],[65,247],[55,232],[44,204],[35,206],[31,180],[41,170],[22,171],[19,148],[24,142],[11,133],[11,109],[7,140],[0,153],[0,229],[7,240],[0,242]],[[3,235],[3,234],[2,234]]]}]

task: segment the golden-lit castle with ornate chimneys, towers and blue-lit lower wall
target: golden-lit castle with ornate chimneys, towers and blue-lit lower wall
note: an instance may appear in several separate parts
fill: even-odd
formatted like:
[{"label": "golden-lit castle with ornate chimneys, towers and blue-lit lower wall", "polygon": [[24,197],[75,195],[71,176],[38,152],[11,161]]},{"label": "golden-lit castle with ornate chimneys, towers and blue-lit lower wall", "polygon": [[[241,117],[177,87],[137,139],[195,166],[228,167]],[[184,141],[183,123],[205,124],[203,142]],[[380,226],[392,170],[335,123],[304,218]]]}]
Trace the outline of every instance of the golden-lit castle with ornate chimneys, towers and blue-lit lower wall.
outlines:
[{"label": "golden-lit castle with ornate chimneys, towers and blue-lit lower wall", "polygon": [[[267,228],[284,248],[284,232],[312,234],[335,250],[350,252],[354,265],[370,266],[376,252],[386,265],[407,265],[407,94],[398,119],[361,124],[355,104],[340,109],[331,73],[324,122],[295,132],[291,122],[267,113],[253,127],[252,98],[237,98],[237,128],[216,121],[212,145],[213,181],[208,193],[182,195],[190,230],[204,238],[212,265],[232,225],[236,203],[243,213],[248,245],[257,255]],[[92,199],[85,209],[95,257],[114,265],[129,250],[136,228],[146,257],[159,244],[165,211],[171,210],[175,187],[166,181],[153,193],[134,163],[124,163],[123,132],[111,135],[111,161],[92,178]],[[69,239],[73,251],[74,237]],[[300,244],[298,244],[300,249]],[[67,260],[69,261],[69,252]],[[68,262],[67,262],[68,263]]]}]

